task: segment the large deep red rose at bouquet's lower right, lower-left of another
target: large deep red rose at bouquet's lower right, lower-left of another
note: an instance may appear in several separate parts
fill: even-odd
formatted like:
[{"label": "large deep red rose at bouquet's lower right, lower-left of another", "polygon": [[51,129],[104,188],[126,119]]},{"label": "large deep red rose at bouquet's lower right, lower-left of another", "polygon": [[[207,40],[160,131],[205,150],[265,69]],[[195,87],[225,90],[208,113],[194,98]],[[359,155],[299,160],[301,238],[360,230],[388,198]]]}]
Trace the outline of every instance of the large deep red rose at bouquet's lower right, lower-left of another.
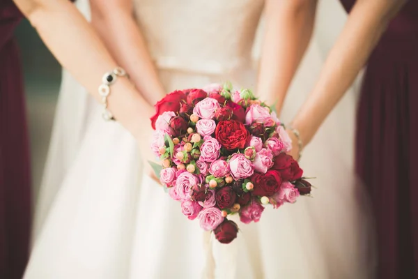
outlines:
[{"label": "large deep red rose at bouquet's lower right, lower-left of another", "polygon": [[251,181],[254,184],[252,195],[256,196],[271,196],[281,186],[280,172],[274,169],[269,169],[265,174],[254,174]]}]

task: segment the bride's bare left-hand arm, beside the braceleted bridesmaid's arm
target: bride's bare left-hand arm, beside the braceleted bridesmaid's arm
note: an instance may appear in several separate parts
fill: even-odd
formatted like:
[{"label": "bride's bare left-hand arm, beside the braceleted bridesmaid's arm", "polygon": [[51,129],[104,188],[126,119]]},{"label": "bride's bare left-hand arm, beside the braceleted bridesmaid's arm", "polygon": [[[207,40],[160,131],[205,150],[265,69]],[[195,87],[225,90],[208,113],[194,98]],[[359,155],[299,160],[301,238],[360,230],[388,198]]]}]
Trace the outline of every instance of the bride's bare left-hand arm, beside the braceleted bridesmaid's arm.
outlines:
[{"label": "bride's bare left-hand arm, beside the braceleted bridesmaid's arm", "polygon": [[90,0],[91,24],[151,105],[165,92],[134,19],[132,0]]}]

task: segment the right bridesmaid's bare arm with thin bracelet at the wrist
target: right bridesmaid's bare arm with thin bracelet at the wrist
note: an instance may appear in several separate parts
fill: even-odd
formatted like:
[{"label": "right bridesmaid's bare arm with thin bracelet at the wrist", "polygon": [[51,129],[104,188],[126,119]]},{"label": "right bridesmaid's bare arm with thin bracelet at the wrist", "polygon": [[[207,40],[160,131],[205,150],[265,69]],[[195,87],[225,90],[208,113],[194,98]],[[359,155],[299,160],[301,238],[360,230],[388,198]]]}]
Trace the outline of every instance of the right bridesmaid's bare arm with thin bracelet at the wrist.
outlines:
[{"label": "right bridesmaid's bare arm with thin bracelet at the wrist", "polygon": [[[293,120],[293,127],[299,130],[304,144],[310,142],[320,124],[353,83],[390,20],[405,2],[357,0],[325,61],[314,90]],[[297,153],[297,146],[292,153]]]}]

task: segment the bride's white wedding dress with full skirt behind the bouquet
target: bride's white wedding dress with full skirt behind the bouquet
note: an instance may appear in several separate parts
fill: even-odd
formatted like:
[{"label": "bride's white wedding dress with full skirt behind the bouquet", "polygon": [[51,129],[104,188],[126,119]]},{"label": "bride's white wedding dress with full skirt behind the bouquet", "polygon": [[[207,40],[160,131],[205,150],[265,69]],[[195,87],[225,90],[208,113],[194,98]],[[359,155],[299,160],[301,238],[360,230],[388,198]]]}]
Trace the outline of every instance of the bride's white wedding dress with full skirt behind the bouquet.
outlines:
[{"label": "bride's white wedding dress with full skirt behind the bouquet", "polygon": [[[167,92],[228,80],[256,87],[251,50],[263,1],[134,2]],[[88,2],[77,6],[88,17]],[[314,40],[288,93],[285,121],[322,63]],[[314,198],[268,207],[259,223],[239,224],[233,243],[214,241],[216,278],[364,278],[363,223],[350,181],[354,107],[349,93],[304,153],[305,174],[318,178]],[[64,70],[24,278],[200,278],[203,230],[140,175],[137,142],[103,121],[100,109]]]}]

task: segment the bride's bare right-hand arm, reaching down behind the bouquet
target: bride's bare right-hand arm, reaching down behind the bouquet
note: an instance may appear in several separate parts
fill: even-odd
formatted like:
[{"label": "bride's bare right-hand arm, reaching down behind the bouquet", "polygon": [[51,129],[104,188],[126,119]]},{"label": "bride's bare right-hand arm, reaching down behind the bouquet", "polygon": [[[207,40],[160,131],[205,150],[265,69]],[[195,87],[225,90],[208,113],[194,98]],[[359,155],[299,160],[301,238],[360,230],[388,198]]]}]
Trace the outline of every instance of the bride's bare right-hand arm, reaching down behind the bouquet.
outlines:
[{"label": "bride's bare right-hand arm, reaching down behind the bouquet", "polygon": [[286,92],[314,29],[317,0],[269,0],[257,95],[280,113]]}]

